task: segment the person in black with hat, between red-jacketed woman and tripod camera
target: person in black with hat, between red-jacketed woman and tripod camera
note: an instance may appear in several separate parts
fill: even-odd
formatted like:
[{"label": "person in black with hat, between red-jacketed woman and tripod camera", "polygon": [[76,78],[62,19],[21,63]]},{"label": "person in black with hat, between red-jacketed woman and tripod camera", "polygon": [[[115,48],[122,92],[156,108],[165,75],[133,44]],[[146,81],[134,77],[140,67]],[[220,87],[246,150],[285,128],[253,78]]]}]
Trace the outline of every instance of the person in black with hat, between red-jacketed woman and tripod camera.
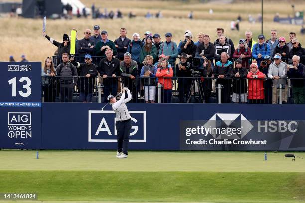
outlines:
[{"label": "person in black with hat, between red-jacketed woman and tripod camera", "polygon": [[192,79],[188,78],[191,77],[192,69],[192,64],[187,61],[188,58],[186,53],[181,53],[180,62],[176,65],[177,77],[181,77],[178,78],[180,103],[184,103],[184,96],[188,94],[192,82]]}]

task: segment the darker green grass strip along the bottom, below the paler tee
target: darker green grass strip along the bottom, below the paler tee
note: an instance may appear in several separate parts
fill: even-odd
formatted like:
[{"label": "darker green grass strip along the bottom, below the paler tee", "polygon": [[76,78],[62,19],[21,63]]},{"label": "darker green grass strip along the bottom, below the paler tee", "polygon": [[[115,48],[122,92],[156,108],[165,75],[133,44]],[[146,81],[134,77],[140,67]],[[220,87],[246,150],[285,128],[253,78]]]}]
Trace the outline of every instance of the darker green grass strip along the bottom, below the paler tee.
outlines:
[{"label": "darker green grass strip along the bottom, below the paler tee", "polygon": [[299,172],[1,171],[0,192],[65,201],[305,200]]}]

